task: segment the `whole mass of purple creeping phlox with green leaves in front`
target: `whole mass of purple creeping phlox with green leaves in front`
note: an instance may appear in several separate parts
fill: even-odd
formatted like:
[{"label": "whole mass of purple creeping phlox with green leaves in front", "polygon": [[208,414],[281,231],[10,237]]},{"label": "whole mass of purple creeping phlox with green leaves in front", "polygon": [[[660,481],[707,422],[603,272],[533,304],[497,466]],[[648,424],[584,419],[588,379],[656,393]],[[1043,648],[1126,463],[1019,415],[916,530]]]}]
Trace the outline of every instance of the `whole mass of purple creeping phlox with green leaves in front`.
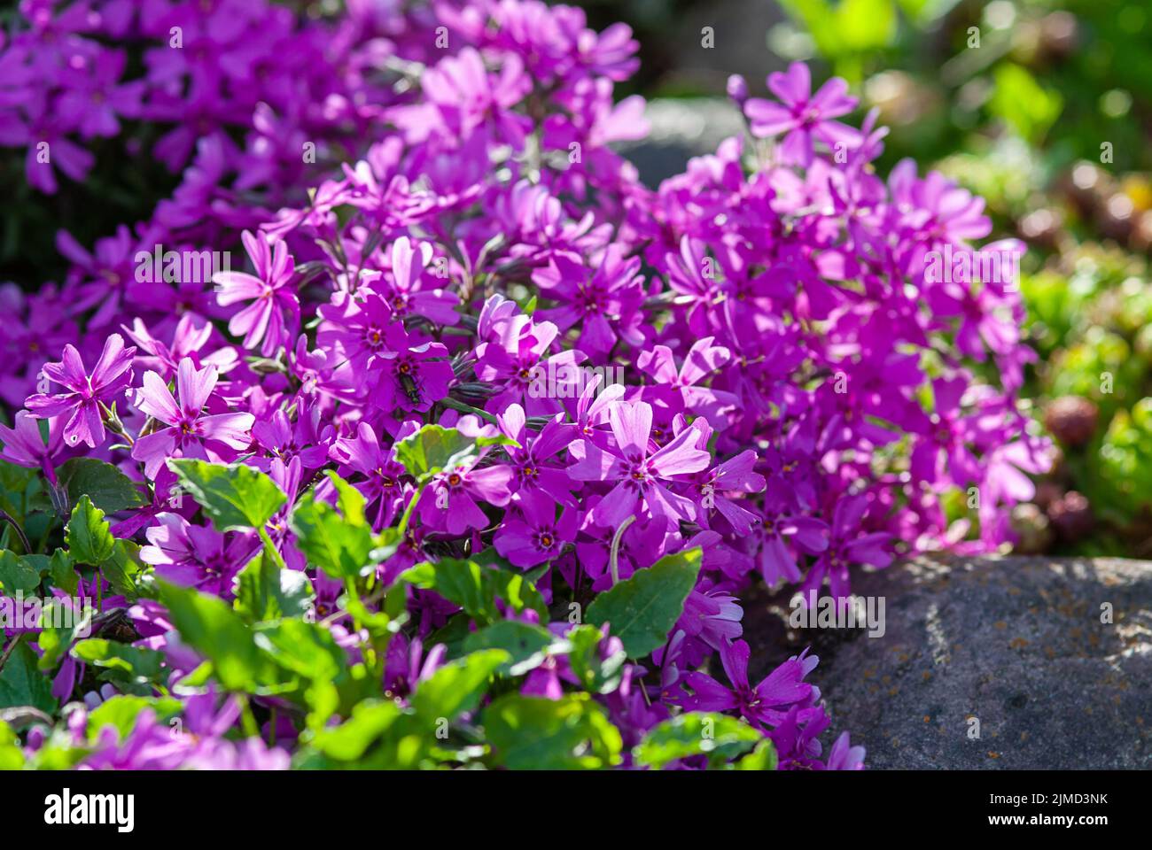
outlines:
[{"label": "whole mass of purple creeping phlox with green leaves in front", "polygon": [[[0,765],[861,767],[818,659],[756,659],[740,598],[1011,539],[1047,468],[1020,294],[940,268],[987,271],[983,202],[881,179],[874,115],[799,63],[734,78],[745,137],[652,191],[611,147],[644,132],[627,28],[354,7],[339,50],[256,74],[233,6],[25,2],[0,55],[135,58],[156,14],[203,52],[153,63],[227,55],[304,112],[301,76],[338,78],[365,120],[339,169],[270,176],[242,101],[147,222],[61,235],[61,286],[9,290]],[[12,79],[30,127],[45,77]],[[297,129],[278,155],[317,165]],[[237,261],[187,274],[212,251]]]}]

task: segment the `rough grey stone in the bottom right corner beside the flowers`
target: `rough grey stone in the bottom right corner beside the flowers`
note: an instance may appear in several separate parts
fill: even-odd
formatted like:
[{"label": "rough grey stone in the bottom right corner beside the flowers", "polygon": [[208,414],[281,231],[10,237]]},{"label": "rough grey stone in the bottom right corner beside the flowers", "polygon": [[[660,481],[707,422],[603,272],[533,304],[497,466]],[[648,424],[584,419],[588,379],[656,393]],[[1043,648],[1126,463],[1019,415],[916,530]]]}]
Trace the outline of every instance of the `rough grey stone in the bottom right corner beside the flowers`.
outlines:
[{"label": "rough grey stone in the bottom right corner beside the flowers", "polygon": [[1152,767],[1152,562],[919,560],[852,591],[885,598],[882,637],[790,630],[773,597],[749,601],[748,639],[764,668],[773,643],[813,646],[833,728],[870,767]]}]

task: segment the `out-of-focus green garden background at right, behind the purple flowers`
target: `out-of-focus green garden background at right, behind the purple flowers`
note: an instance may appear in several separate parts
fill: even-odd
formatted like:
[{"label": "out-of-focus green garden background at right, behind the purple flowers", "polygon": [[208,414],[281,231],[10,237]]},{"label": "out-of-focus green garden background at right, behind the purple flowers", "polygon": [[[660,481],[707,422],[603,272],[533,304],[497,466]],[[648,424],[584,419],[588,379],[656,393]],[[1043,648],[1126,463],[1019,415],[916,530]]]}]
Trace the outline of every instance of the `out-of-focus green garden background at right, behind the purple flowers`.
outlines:
[{"label": "out-of-focus green garden background at right, behind the purple flowers", "polygon": [[632,91],[651,99],[653,138],[630,155],[650,183],[741,131],[717,98],[728,73],[759,92],[805,60],[892,128],[881,172],[914,157],[984,196],[995,235],[1030,245],[1039,362],[1023,394],[1060,447],[1014,514],[1017,549],[1152,556],[1149,0],[582,5],[637,31]]}]

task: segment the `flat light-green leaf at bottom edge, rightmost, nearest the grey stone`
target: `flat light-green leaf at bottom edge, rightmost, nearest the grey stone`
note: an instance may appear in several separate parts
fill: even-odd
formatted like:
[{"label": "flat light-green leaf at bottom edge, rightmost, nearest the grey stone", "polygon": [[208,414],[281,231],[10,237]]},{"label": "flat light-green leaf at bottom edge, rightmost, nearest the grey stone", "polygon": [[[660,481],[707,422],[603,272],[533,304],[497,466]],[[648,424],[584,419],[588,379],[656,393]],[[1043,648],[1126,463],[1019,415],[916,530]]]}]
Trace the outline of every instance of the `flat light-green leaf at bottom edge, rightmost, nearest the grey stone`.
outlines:
[{"label": "flat light-green leaf at bottom edge, rightmost, nearest the grey stone", "polygon": [[[706,756],[710,766],[736,758],[764,741],[763,733],[718,712],[688,712],[652,728],[632,750],[637,765],[661,769],[677,759]],[[771,742],[770,742],[771,743]]]}]

